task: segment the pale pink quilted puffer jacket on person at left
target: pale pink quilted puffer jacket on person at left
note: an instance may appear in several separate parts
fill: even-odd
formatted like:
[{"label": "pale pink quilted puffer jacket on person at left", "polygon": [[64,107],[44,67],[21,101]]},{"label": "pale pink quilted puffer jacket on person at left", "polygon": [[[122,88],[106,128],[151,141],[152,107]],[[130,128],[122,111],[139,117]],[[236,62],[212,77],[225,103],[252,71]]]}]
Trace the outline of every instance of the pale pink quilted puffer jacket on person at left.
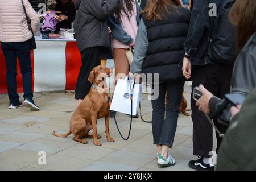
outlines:
[{"label": "pale pink quilted puffer jacket on person at left", "polygon": [[[35,34],[39,25],[39,16],[28,0],[23,0],[31,27]],[[28,30],[26,16],[21,0],[0,1],[0,42],[24,42],[32,38]]]}]

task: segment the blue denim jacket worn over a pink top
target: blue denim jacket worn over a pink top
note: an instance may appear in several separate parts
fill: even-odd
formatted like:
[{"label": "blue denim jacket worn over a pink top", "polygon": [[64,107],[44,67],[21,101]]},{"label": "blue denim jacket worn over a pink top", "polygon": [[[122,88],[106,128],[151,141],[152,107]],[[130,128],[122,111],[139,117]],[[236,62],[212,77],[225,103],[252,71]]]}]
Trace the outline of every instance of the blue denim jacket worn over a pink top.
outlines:
[{"label": "blue denim jacket worn over a pink top", "polygon": [[[141,7],[139,7],[139,4],[137,1],[135,2],[136,2],[136,8],[137,8],[136,20],[137,20],[137,24],[139,25],[139,22],[141,20]],[[123,30],[121,26],[121,22],[117,18],[115,18],[114,15],[110,16],[110,18],[108,19],[108,24],[111,28],[113,38],[117,39],[119,42],[126,45],[130,45],[131,43],[133,43],[133,38],[131,38],[131,36],[128,35],[125,30]]]}]

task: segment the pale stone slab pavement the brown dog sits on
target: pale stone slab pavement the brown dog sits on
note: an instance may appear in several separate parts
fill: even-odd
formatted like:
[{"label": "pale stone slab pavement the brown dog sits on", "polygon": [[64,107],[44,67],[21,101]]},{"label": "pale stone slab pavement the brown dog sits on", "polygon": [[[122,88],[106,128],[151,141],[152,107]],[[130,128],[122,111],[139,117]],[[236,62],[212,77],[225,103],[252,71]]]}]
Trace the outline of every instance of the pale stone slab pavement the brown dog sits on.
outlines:
[{"label": "pale stone slab pavement the brown dog sits on", "polygon": [[[190,86],[185,86],[189,102]],[[21,96],[21,95],[20,95]],[[94,146],[92,139],[87,144],[67,138],[54,137],[51,133],[65,133],[76,101],[72,93],[35,93],[35,101],[42,110],[30,111],[21,107],[9,110],[7,94],[0,94],[0,170],[190,170],[188,161],[197,159],[192,155],[192,120],[180,114],[170,153],[176,165],[160,168],[156,164],[156,148],[152,144],[151,123],[134,119],[130,139],[122,140],[114,119],[110,118],[110,134],[114,143],[106,142],[105,123],[98,119],[98,133],[102,146]],[[151,101],[143,96],[142,114],[151,120]],[[190,106],[188,106],[190,108]],[[117,114],[119,126],[126,136],[129,117]],[[216,143],[216,142],[214,142]],[[46,165],[38,164],[38,151],[46,151]]]}]

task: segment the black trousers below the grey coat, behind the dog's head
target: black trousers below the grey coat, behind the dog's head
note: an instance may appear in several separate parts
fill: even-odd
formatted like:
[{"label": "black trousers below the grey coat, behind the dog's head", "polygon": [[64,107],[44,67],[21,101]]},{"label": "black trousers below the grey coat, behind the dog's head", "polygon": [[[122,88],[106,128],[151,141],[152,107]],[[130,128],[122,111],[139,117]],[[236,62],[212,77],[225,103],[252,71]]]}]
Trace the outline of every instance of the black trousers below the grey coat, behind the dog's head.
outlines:
[{"label": "black trousers below the grey coat, behind the dog's head", "polygon": [[84,99],[90,92],[92,84],[88,81],[88,77],[94,67],[101,65],[101,49],[101,47],[92,47],[81,52],[82,66],[77,77],[75,99]]}]

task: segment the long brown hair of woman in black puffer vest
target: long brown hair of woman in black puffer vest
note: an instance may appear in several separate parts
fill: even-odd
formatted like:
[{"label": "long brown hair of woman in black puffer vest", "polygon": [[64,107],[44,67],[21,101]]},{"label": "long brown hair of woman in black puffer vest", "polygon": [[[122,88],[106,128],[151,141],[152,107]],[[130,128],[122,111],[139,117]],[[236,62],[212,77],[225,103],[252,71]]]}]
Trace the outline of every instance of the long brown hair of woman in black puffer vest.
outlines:
[{"label": "long brown hair of woman in black puffer vest", "polygon": [[178,13],[177,6],[182,6],[180,0],[150,0],[142,14],[146,13],[148,20],[163,20],[169,13],[169,7]]}]

